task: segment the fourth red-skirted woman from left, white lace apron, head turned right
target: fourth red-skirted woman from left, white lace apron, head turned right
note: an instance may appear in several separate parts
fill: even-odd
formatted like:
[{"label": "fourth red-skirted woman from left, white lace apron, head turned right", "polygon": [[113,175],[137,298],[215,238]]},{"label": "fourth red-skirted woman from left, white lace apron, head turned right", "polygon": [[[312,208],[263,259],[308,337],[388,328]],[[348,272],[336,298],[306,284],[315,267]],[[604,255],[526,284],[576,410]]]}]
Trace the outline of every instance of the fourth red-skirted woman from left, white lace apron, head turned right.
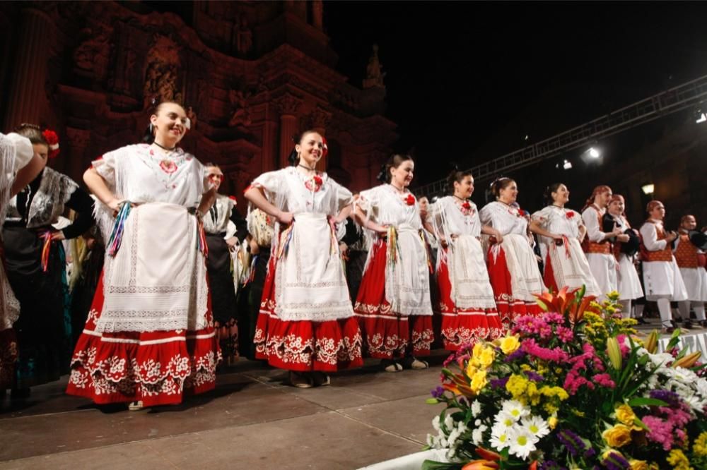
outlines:
[{"label": "fourth red-skirted woman from left, white lace apron, head turned right", "polygon": [[452,195],[431,205],[428,222],[441,246],[437,283],[443,343],[445,349],[457,351],[503,332],[479,241],[481,233],[503,236],[481,225],[477,206],[469,200],[474,192],[471,171],[452,170],[448,190]]}]

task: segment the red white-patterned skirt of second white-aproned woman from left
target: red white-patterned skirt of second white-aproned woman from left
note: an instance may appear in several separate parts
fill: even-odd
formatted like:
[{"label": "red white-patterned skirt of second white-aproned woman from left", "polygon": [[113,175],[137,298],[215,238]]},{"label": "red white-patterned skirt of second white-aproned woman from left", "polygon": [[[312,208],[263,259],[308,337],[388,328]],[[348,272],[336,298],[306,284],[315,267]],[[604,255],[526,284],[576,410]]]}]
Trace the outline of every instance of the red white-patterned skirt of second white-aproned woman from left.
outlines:
[{"label": "red white-patterned skirt of second white-aproned woman from left", "polygon": [[255,327],[255,357],[298,372],[336,372],[363,366],[356,318],[280,320],[275,313],[276,256],[271,256]]}]

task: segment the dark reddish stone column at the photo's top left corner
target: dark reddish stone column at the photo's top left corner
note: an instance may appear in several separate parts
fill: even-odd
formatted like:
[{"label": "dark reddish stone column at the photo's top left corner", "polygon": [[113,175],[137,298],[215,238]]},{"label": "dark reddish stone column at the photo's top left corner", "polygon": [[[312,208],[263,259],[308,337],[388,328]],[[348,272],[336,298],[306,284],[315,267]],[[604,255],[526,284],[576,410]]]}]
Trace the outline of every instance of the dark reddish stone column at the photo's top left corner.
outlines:
[{"label": "dark reddish stone column at the photo's top left corner", "polygon": [[23,8],[20,34],[17,44],[20,49],[14,66],[5,113],[5,128],[11,129],[19,123],[38,124],[42,106],[47,101],[47,61],[49,38],[52,36],[52,20],[43,11]]}]

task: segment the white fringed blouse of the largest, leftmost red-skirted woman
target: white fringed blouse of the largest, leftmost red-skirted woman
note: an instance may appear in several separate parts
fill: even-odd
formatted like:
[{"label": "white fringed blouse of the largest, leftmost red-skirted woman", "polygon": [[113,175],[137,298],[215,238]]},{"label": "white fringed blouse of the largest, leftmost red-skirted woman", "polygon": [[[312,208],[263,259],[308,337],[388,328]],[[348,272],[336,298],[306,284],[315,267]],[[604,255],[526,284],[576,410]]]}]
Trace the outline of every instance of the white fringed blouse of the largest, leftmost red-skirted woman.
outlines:
[{"label": "white fringed blouse of the largest, leftmost red-skirted woman", "polygon": [[117,198],[136,204],[197,207],[209,189],[204,166],[180,148],[165,154],[147,144],[127,145],[105,153],[93,168]]}]

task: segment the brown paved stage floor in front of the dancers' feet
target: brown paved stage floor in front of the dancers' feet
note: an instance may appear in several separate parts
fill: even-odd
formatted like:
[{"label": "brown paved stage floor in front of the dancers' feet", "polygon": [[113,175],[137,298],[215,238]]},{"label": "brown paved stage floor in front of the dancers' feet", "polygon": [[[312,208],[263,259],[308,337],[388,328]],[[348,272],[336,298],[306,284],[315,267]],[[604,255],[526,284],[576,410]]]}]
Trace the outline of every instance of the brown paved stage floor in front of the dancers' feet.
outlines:
[{"label": "brown paved stage floor in front of the dancers' feet", "polygon": [[0,402],[0,469],[358,469],[421,450],[440,411],[425,399],[445,357],[435,351],[430,369],[399,373],[366,361],[308,390],[240,361],[216,390],[141,411],[69,397],[64,378]]}]

